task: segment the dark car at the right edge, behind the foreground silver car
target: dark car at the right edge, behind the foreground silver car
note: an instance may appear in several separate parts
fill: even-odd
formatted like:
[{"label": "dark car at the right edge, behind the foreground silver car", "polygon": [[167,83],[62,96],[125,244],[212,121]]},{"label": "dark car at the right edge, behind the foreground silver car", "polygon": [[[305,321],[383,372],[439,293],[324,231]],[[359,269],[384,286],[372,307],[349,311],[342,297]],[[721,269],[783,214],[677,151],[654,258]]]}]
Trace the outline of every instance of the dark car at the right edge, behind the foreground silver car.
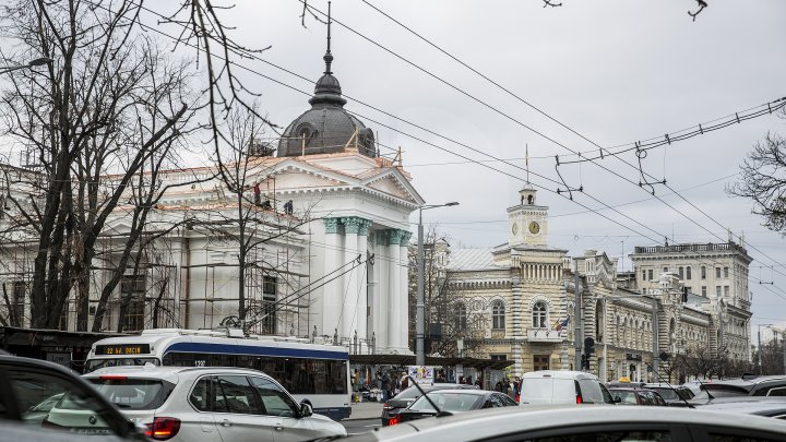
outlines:
[{"label": "dark car at the right edge, behind the foreground silver car", "polygon": [[708,404],[717,397],[786,396],[786,375],[743,375],[742,378],[710,381],[701,385],[692,405]]}]

